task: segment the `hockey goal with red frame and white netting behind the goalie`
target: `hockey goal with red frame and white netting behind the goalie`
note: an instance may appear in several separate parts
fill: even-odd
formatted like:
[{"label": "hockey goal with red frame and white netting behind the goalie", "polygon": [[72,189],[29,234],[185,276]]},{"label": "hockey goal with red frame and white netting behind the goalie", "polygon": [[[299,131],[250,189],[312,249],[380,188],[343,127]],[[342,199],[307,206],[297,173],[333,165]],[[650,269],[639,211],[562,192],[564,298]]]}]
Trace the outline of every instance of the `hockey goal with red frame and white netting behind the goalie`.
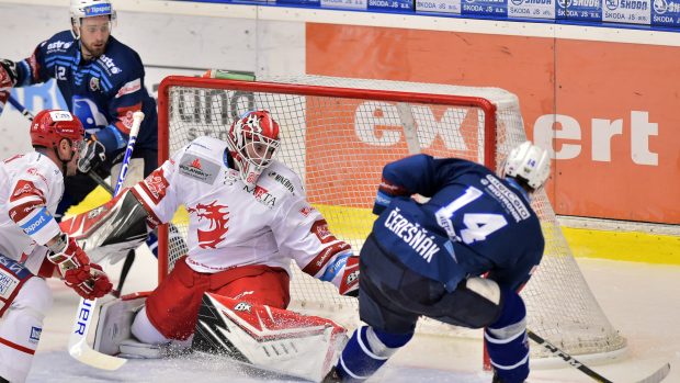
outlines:
[{"label": "hockey goal with red frame and white netting behind the goalie", "polygon": [[[356,254],[375,219],[371,206],[385,164],[421,151],[497,169],[509,149],[526,139],[517,97],[495,88],[317,76],[257,82],[169,77],[158,93],[161,160],[197,136],[225,139],[231,121],[248,110],[269,110],[282,129],[277,159],[301,176],[309,202]],[[625,339],[590,292],[544,191],[532,205],[542,221],[546,248],[539,271],[522,291],[529,328],[581,358],[620,352]],[[185,236],[183,209],[173,222]],[[160,237],[162,279],[178,251],[168,245],[167,232]],[[356,300],[341,297],[329,283],[292,269],[293,307],[345,325],[348,315],[356,317]],[[419,331],[460,334],[451,326],[422,323]],[[539,347],[532,352],[547,356]]]}]

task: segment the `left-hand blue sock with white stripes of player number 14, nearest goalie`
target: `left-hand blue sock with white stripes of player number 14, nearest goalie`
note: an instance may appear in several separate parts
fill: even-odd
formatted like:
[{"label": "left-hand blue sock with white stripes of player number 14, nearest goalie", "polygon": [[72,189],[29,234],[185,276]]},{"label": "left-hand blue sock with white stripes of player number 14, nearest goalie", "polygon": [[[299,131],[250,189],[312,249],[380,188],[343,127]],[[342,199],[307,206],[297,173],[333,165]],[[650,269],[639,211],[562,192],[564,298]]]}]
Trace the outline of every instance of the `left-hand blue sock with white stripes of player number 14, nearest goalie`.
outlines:
[{"label": "left-hand blue sock with white stripes of player number 14, nearest goalie", "polygon": [[343,382],[361,382],[377,371],[413,334],[388,334],[362,326],[348,341],[336,367]]}]

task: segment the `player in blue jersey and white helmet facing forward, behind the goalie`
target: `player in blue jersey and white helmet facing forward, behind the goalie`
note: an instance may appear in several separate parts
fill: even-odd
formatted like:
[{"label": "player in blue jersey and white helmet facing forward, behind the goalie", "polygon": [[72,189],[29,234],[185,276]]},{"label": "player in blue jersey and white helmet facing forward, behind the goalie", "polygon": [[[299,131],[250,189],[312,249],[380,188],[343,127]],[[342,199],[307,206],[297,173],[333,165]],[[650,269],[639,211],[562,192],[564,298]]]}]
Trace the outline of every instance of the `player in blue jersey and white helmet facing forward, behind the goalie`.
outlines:
[{"label": "player in blue jersey and white helmet facing forward, behind the goalie", "polygon": [[86,128],[88,143],[79,173],[66,179],[56,216],[97,187],[89,171],[106,178],[112,166],[122,161],[136,111],[144,112],[145,119],[133,158],[144,159],[144,177],[158,167],[156,101],[144,87],[139,55],[111,35],[116,21],[111,1],[71,0],[70,18],[71,30],[38,44],[31,57],[18,63],[0,59],[0,90],[54,78],[68,110]]}]

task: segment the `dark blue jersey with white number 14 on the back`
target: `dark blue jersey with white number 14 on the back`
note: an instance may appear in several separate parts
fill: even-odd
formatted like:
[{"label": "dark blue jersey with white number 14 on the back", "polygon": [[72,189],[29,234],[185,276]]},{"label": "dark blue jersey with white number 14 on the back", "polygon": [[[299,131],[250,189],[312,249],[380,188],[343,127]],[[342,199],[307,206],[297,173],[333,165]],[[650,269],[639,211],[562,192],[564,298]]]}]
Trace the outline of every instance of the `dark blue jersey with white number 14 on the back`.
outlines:
[{"label": "dark blue jersey with white number 14 on the back", "polygon": [[[416,193],[430,200],[418,203],[409,198]],[[427,155],[392,162],[376,204],[385,207],[373,226],[383,248],[450,291],[486,272],[501,288],[518,289],[543,257],[525,191],[475,162]]]}]

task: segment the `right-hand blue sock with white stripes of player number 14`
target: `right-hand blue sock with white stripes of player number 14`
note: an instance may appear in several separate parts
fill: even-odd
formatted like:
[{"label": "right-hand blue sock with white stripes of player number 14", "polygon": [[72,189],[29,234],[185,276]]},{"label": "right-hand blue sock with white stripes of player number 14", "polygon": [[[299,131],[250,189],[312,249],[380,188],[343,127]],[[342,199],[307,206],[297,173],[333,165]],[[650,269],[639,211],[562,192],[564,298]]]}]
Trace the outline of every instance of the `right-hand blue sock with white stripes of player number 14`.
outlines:
[{"label": "right-hand blue sock with white stripes of player number 14", "polygon": [[529,376],[526,308],[514,291],[503,291],[503,306],[496,323],[486,328],[485,343],[496,375],[505,383],[524,382]]}]

